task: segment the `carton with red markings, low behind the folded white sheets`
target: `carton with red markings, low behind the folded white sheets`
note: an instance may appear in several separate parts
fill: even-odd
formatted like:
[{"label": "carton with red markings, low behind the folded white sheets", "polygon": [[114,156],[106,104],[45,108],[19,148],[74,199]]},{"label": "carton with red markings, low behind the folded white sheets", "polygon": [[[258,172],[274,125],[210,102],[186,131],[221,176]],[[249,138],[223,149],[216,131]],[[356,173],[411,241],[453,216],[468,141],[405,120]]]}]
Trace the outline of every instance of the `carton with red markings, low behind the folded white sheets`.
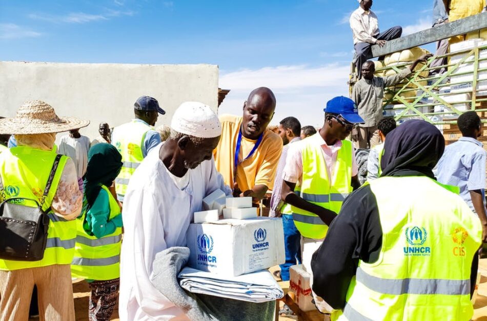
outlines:
[{"label": "carton with red markings, low behind the folded white sheets", "polygon": [[303,312],[316,310],[312,302],[310,287],[310,273],[302,268],[302,265],[293,265],[289,268],[289,290],[296,294],[296,304]]}]

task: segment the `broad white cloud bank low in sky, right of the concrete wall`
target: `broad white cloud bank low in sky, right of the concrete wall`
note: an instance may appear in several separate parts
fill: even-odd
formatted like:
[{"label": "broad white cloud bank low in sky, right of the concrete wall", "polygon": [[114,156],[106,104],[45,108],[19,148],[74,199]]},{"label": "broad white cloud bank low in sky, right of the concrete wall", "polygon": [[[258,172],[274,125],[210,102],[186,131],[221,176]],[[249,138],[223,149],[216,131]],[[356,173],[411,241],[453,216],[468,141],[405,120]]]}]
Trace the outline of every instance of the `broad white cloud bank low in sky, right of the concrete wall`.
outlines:
[{"label": "broad white cloud bank low in sky, right of the concrete wall", "polygon": [[266,86],[277,99],[271,124],[295,116],[303,125],[321,126],[323,107],[335,96],[348,96],[348,64],[324,66],[290,65],[243,69],[221,73],[220,87],[230,89],[219,108],[220,113],[240,114],[250,91]]}]

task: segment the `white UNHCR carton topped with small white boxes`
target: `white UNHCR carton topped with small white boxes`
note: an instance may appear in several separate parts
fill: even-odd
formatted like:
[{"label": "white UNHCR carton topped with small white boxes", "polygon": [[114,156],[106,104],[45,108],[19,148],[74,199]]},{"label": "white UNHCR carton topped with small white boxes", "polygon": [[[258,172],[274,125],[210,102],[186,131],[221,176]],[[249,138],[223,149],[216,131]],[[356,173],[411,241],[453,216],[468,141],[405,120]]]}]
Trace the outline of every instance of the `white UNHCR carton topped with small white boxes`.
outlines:
[{"label": "white UNHCR carton topped with small white boxes", "polygon": [[285,262],[281,219],[257,217],[251,197],[216,190],[202,208],[187,233],[190,267],[236,277]]}]

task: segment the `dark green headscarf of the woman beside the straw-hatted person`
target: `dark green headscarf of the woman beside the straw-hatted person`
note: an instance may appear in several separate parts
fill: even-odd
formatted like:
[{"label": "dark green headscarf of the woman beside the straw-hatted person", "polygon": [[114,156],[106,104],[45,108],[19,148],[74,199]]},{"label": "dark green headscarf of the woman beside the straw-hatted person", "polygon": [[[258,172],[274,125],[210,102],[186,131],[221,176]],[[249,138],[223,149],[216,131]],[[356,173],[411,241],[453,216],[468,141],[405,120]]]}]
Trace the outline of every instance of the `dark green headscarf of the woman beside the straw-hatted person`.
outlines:
[{"label": "dark green headscarf of the woman beside the straw-hatted person", "polygon": [[88,167],[84,178],[85,197],[89,210],[102,185],[110,187],[120,173],[122,167],[121,155],[117,149],[106,143],[99,143],[88,152]]}]

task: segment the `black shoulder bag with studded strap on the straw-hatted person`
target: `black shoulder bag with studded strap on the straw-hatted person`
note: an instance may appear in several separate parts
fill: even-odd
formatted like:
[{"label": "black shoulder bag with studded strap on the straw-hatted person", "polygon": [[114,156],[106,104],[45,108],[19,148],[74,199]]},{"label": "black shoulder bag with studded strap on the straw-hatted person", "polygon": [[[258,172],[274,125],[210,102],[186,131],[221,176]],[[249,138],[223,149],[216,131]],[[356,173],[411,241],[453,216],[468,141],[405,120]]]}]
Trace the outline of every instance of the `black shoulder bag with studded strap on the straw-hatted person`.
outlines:
[{"label": "black shoulder bag with studded strap on the straw-hatted person", "polygon": [[[3,183],[0,193],[4,201],[0,204],[0,259],[12,261],[39,261],[44,258],[49,216],[51,209],[44,212],[42,207],[52,185],[61,155],[56,155],[47,181],[42,200],[30,198],[6,198]],[[37,207],[16,204],[15,201],[30,200]]]}]

